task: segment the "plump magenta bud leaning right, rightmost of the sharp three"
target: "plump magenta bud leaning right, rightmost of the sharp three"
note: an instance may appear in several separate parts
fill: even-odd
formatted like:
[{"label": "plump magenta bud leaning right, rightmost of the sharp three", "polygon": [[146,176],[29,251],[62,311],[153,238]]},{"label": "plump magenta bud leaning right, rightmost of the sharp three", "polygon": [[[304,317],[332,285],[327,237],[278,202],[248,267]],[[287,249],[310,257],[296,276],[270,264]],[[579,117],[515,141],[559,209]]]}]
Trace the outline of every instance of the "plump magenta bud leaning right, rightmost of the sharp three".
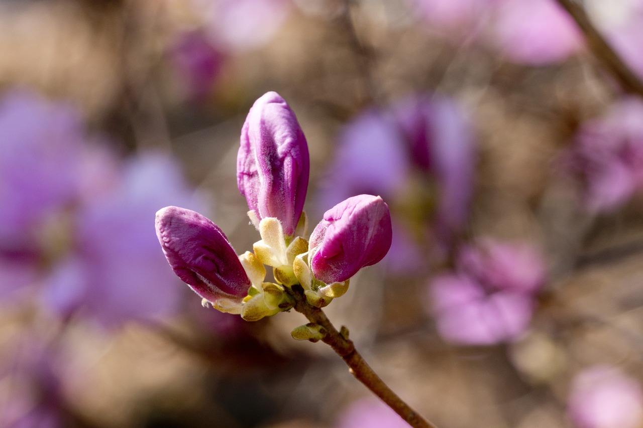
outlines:
[{"label": "plump magenta bud leaning right, rightmost of the sharp three", "polygon": [[388,205],[381,197],[350,197],[326,211],[312,231],[312,273],[327,284],[348,280],[362,267],[382,260],[392,236]]}]

